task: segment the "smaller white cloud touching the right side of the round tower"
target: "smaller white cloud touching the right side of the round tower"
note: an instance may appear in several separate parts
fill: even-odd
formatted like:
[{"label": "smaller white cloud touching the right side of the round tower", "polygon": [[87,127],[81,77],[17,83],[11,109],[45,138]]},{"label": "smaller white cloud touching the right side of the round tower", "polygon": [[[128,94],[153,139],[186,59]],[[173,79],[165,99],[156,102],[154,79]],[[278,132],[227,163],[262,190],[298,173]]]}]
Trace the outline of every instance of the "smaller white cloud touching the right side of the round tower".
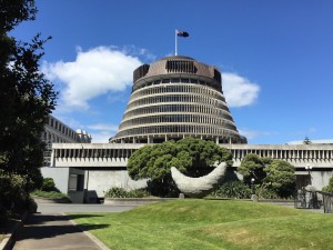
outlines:
[{"label": "smaller white cloud touching the right side of the round tower", "polygon": [[222,89],[229,107],[251,106],[259,96],[260,87],[235,73],[222,73]]}]

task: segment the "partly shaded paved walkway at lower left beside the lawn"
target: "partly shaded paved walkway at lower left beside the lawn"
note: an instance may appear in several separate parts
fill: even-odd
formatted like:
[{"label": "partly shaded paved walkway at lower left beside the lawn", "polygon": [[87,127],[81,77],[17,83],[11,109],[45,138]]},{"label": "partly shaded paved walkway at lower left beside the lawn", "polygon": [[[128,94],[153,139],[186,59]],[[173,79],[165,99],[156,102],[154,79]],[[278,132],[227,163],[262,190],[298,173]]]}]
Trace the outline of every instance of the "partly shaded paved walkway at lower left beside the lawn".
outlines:
[{"label": "partly shaded paved walkway at lower left beside the lawn", "polygon": [[36,213],[28,216],[24,227],[17,236],[13,250],[108,249],[99,244],[72,224],[65,216]]}]

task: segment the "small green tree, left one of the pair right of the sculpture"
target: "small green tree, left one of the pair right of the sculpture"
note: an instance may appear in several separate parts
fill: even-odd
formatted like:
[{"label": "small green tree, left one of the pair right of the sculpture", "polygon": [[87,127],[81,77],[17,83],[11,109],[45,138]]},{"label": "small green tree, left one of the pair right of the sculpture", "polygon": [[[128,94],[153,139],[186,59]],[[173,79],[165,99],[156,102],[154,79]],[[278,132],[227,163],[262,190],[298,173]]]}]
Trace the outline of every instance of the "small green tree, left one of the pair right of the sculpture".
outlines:
[{"label": "small green tree, left one of the pair right of the sculpture", "polygon": [[266,161],[255,153],[248,153],[238,168],[238,171],[243,174],[243,181],[250,184],[251,179],[254,178],[255,183],[261,184],[266,177],[264,171]]}]

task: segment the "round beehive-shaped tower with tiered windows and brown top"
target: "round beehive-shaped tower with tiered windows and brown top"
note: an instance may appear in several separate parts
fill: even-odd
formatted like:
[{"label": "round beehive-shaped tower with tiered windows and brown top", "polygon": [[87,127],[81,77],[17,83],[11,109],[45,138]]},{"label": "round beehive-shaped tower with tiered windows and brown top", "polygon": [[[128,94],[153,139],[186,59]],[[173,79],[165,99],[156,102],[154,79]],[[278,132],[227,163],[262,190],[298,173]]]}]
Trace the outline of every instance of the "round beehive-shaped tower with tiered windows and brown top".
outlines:
[{"label": "round beehive-shaped tower with tiered windows and brown top", "polygon": [[131,98],[110,142],[159,143],[184,137],[246,143],[226,106],[219,69],[181,56],[135,69]]}]

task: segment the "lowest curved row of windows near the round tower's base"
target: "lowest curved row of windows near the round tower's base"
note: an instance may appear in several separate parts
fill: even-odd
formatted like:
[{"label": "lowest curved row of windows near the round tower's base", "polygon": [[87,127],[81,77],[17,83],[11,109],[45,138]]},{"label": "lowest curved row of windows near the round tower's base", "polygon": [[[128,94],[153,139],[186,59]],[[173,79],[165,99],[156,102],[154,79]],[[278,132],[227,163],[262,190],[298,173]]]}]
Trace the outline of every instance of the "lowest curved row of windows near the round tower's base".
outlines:
[{"label": "lowest curved row of windows near the round tower's base", "polygon": [[191,134],[212,134],[212,136],[239,136],[236,131],[219,127],[208,127],[198,124],[170,124],[132,128],[117,133],[117,138],[159,133],[191,133]]}]

